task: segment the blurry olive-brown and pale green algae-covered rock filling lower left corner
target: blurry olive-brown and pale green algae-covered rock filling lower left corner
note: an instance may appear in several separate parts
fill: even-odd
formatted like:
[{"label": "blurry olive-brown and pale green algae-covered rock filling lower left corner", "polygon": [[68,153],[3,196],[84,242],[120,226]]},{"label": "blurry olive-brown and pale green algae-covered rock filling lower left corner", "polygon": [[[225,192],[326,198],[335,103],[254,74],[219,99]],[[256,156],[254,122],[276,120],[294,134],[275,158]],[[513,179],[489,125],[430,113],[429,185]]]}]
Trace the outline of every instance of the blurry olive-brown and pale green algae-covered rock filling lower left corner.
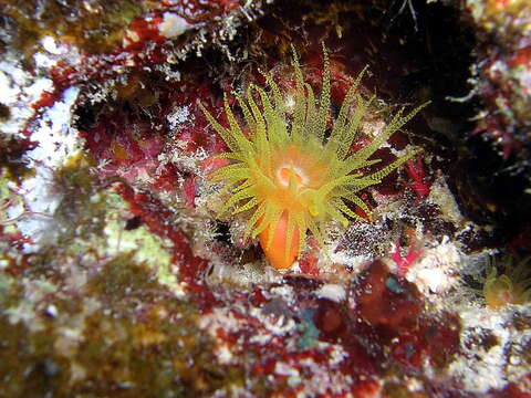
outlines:
[{"label": "blurry olive-brown and pale green algae-covered rock filling lower left corner", "polygon": [[[2,245],[0,384],[9,397],[190,397],[243,386],[219,365],[173,273],[170,242],[70,158],[54,174],[61,233],[27,262]],[[122,182],[121,182],[122,184]]]}]

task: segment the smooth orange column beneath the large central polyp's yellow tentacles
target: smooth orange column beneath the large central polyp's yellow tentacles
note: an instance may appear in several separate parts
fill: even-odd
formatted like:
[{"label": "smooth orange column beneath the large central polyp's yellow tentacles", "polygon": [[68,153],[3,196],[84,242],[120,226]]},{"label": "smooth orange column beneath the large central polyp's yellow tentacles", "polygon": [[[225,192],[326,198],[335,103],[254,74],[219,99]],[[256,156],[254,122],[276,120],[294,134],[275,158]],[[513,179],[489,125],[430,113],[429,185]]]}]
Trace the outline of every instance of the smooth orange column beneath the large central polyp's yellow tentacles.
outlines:
[{"label": "smooth orange column beneath the large central polyp's yellow tentacles", "polygon": [[[273,230],[273,240],[268,248],[269,234]],[[284,211],[275,226],[269,224],[262,233],[259,235],[260,245],[262,247],[266,258],[271,265],[277,270],[284,270],[293,264],[299,252],[299,230],[295,228],[293,231],[293,239],[291,241],[291,248],[285,255],[285,245],[288,244],[288,212]]]}]

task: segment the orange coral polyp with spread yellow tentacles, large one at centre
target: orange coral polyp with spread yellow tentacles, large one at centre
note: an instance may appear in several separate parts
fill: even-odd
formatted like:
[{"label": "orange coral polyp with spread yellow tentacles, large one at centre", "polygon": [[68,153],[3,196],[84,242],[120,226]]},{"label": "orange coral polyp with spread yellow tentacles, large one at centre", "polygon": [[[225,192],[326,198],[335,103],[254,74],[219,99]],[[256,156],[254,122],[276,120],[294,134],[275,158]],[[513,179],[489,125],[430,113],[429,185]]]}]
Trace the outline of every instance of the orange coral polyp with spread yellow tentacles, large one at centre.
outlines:
[{"label": "orange coral polyp with spread yellow tentacles, large one at centre", "polygon": [[327,221],[335,219],[344,227],[348,224],[348,218],[365,221],[352,210],[352,205],[371,218],[371,211],[358,192],[379,184],[416,154],[410,151],[378,171],[363,171],[366,166],[379,161],[369,160],[369,157],[426,104],[406,116],[402,116],[402,108],[378,136],[351,154],[352,142],[375,96],[365,98],[358,91],[363,70],[350,87],[332,128],[329,128],[330,65],[324,46],[323,54],[319,103],[303,78],[293,49],[295,87],[290,93],[282,93],[267,73],[263,75],[269,94],[257,85],[251,85],[246,96],[233,93],[246,129],[240,127],[227,96],[225,112],[229,127],[221,126],[199,104],[229,147],[229,151],[220,156],[232,161],[211,175],[214,180],[225,181],[231,193],[220,213],[229,210],[232,214],[248,212],[244,233],[253,239],[260,238],[266,256],[275,269],[285,269],[293,263],[309,230],[323,247],[323,227]]}]

